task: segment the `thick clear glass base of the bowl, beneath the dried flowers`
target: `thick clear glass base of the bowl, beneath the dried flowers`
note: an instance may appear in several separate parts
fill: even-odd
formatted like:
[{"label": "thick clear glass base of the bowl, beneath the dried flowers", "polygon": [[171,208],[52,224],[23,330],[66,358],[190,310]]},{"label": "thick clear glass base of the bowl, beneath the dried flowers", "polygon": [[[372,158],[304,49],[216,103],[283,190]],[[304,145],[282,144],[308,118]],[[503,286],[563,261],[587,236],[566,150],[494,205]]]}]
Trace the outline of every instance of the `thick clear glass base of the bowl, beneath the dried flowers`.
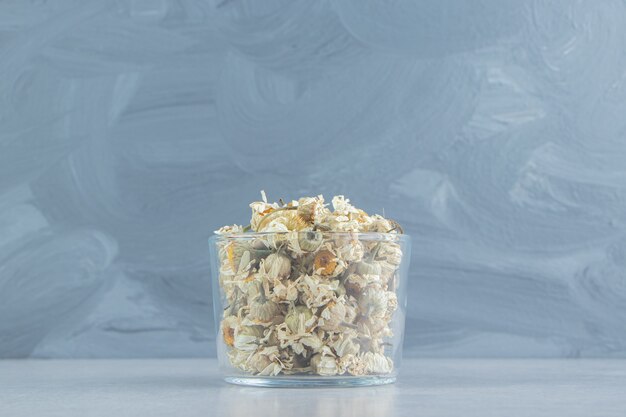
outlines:
[{"label": "thick clear glass base of the bowl, beneath the dried flowers", "polygon": [[396,382],[395,376],[227,376],[224,380],[230,384],[268,388],[323,388],[323,387],[366,387],[386,385]]}]

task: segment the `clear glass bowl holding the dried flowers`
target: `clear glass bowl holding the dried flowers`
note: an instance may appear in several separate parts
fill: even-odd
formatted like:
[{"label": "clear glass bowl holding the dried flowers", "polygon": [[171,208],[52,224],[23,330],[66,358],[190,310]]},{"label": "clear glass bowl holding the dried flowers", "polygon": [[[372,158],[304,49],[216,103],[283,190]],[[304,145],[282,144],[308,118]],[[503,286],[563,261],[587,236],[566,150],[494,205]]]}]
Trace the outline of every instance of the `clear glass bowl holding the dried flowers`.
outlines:
[{"label": "clear glass bowl holding the dried flowers", "polygon": [[410,238],[280,232],[209,239],[220,371],[256,386],[393,383]]}]

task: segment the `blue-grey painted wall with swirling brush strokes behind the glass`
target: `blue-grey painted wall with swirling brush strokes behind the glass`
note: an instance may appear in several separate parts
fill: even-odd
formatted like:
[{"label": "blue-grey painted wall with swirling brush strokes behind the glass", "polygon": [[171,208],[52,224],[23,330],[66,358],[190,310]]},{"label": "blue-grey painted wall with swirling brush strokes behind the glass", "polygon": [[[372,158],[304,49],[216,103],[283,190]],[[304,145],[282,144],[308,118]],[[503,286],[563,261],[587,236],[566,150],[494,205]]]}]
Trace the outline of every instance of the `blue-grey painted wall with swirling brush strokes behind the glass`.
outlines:
[{"label": "blue-grey painted wall with swirling brush strokes behind the glass", "polygon": [[0,2],[0,357],[214,353],[206,238],[345,194],[409,356],[626,356],[623,0]]}]

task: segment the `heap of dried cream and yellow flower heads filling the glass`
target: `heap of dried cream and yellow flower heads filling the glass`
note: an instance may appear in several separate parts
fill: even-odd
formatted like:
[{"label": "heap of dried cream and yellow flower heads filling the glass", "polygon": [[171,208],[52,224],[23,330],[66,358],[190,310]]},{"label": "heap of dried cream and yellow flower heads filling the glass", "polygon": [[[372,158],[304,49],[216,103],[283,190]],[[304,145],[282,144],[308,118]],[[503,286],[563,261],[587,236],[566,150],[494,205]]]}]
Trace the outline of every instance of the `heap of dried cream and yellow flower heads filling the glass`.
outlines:
[{"label": "heap of dried cream and yellow flower heads filling the glass", "polygon": [[254,375],[390,373],[400,226],[343,196],[331,211],[321,195],[270,204],[261,194],[249,226],[216,231],[232,365]]}]

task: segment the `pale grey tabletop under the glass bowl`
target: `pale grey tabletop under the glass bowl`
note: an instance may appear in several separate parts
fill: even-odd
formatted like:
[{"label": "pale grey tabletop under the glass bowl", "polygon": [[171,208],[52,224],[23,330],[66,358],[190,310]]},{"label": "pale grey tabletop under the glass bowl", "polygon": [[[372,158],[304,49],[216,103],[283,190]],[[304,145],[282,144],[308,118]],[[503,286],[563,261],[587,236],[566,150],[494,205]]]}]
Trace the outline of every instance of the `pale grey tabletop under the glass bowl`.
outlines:
[{"label": "pale grey tabletop under the glass bowl", "polygon": [[626,360],[405,360],[394,385],[229,385],[212,359],[0,361],[0,416],[626,416]]}]

